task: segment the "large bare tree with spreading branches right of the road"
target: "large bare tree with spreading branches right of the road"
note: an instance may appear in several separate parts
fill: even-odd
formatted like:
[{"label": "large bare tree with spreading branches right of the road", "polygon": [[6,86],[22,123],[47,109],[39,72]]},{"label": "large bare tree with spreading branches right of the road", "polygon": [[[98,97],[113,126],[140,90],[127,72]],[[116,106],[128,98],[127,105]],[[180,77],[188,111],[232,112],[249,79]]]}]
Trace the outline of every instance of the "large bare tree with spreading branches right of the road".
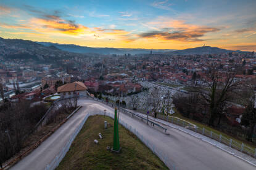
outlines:
[{"label": "large bare tree with spreading branches right of the road", "polygon": [[[202,77],[202,84],[197,85],[196,92],[204,99],[209,108],[209,122],[213,126],[216,118],[221,118],[226,101],[231,98],[231,93],[237,89],[237,81],[234,79],[233,71],[220,71],[212,66],[209,74]],[[219,120],[220,122],[220,120]]]}]

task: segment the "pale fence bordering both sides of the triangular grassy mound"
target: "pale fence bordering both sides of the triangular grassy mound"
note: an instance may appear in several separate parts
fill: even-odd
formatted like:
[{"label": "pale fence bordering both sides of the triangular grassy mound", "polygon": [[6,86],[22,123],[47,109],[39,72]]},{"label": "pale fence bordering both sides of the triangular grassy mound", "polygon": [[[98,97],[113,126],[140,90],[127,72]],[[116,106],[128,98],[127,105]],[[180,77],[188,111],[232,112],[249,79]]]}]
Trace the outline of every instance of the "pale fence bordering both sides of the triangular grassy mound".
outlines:
[{"label": "pale fence bordering both sides of the triangular grassy mound", "polygon": [[[98,114],[87,114],[86,117],[83,119],[83,122],[80,123],[80,125],[75,129],[75,132],[73,135],[70,137],[69,141],[67,144],[64,146],[64,148],[61,150],[61,152],[54,158],[54,160],[51,161],[51,163],[47,164],[46,168],[44,170],[53,170],[59,166],[59,163],[62,161],[68,150],[70,149],[70,146],[72,142],[74,141],[75,137],[78,135],[80,132],[81,128],[83,128],[83,125],[85,124],[86,120],[88,119],[89,116],[91,115],[104,115],[104,112],[99,112]],[[114,114],[112,113],[107,113],[105,114],[106,116],[109,116],[111,118],[114,118]],[[131,133],[135,134],[149,149],[152,150],[155,155],[157,155],[160,160],[165,163],[165,165],[169,169],[175,170],[175,166],[171,163],[170,159],[168,158],[168,155],[165,155],[163,152],[160,152],[159,150],[156,149],[155,145],[152,144],[152,142],[148,141],[145,137],[142,136],[135,128],[132,126],[128,125],[127,123],[123,122],[122,118],[119,119],[119,123],[123,125],[126,129],[131,131]]]}]

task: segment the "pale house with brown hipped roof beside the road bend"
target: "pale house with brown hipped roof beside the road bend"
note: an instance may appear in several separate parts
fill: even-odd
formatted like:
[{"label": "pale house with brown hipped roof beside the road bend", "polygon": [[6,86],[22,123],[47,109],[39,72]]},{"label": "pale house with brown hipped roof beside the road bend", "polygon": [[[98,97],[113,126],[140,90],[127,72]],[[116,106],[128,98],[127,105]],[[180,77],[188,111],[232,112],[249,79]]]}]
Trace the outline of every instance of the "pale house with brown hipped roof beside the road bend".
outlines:
[{"label": "pale house with brown hipped roof beside the road bend", "polygon": [[73,82],[58,87],[57,92],[60,94],[60,98],[70,98],[75,95],[86,96],[87,87],[83,82]]}]

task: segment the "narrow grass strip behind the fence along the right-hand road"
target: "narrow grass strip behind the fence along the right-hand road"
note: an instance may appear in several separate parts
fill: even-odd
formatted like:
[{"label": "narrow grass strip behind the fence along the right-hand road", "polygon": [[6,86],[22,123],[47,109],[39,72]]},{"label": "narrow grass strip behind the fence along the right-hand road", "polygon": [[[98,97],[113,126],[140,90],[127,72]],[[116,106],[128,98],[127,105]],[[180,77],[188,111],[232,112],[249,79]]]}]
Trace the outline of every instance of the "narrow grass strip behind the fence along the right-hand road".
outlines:
[{"label": "narrow grass strip behind the fence along the right-hand road", "polygon": [[233,141],[236,141],[236,142],[239,143],[239,144],[244,143],[244,144],[247,144],[248,146],[250,146],[250,147],[252,147],[252,148],[254,148],[254,149],[256,148],[256,146],[255,146],[254,144],[252,144],[252,143],[250,143],[250,142],[248,142],[248,141],[246,141],[246,140],[237,139],[237,137],[234,137],[234,136],[231,136],[231,135],[229,135],[229,134],[223,133],[222,131],[218,131],[217,129],[214,129],[214,128],[212,128],[212,127],[209,127],[209,126],[207,126],[207,125],[205,125],[205,124],[203,124],[203,123],[200,123],[200,122],[197,122],[197,121],[195,121],[195,120],[191,120],[191,119],[189,119],[189,118],[183,117],[183,115],[181,115],[180,112],[178,112],[178,110],[177,110],[176,108],[175,108],[174,110],[175,110],[175,114],[173,114],[173,115],[171,115],[171,116],[178,117],[178,118],[181,118],[181,119],[183,119],[183,120],[186,120],[186,121],[188,121],[188,122],[190,122],[190,123],[193,123],[194,125],[198,126],[199,128],[205,128],[205,129],[207,129],[207,130],[209,130],[209,131],[213,131],[214,133],[216,133],[216,134],[218,134],[218,135],[221,134],[221,135],[224,136],[224,137],[231,138]]}]

